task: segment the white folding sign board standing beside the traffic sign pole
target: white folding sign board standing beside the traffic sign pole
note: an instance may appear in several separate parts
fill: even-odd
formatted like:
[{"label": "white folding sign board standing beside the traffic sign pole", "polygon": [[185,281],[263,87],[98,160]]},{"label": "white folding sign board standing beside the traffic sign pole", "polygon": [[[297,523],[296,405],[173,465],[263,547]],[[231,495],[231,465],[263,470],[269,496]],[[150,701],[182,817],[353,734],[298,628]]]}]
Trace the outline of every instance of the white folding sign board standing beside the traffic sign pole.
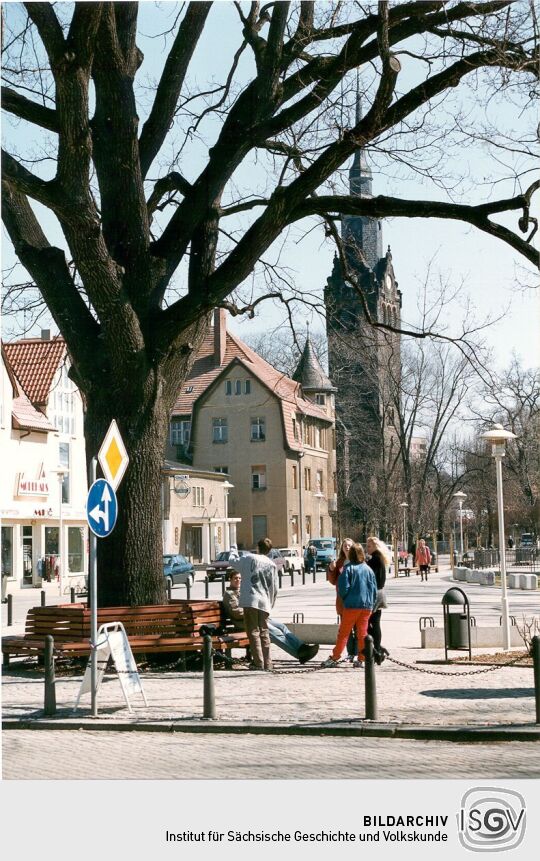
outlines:
[{"label": "white folding sign board standing beside the traffic sign pole", "polygon": [[[98,630],[97,642],[96,697],[103,681],[109,658],[112,658],[116,672],[118,673],[118,681],[122,687],[122,693],[130,712],[133,711],[129,701],[129,697],[132,694],[141,694],[144,704],[148,705],[137,670],[137,664],[135,663],[135,658],[133,657],[133,652],[131,651],[131,646],[129,645],[129,640],[122,623],[108,622],[106,625],[101,625]],[[75,702],[75,711],[79,707],[80,698],[84,694],[91,693],[91,691],[92,671],[89,660],[81,683],[81,689]]]}]

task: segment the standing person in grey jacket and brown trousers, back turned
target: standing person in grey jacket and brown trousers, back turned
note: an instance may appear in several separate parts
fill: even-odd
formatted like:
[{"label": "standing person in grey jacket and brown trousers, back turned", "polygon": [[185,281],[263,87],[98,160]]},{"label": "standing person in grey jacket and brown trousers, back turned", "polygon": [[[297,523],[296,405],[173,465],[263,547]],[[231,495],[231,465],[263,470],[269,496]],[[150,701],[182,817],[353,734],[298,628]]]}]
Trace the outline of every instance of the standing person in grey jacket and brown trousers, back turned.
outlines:
[{"label": "standing person in grey jacket and brown trousers, back turned", "polygon": [[278,592],[278,571],[275,562],[269,559],[272,549],[269,538],[257,543],[258,553],[249,553],[234,559],[234,567],[242,575],[239,605],[244,610],[246,634],[253,663],[250,669],[272,671],[270,657],[270,634],[268,619]]}]

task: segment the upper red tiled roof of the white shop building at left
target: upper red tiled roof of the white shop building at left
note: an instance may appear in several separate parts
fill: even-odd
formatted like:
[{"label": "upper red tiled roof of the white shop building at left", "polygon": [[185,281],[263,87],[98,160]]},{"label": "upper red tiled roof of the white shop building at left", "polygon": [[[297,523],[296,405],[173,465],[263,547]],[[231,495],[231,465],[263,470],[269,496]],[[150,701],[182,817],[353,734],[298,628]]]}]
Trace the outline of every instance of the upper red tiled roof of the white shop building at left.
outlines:
[{"label": "upper red tiled roof of the white shop building at left", "polygon": [[60,336],[52,341],[25,338],[4,344],[8,361],[33,404],[45,406],[54,375],[63,361],[66,345]]}]

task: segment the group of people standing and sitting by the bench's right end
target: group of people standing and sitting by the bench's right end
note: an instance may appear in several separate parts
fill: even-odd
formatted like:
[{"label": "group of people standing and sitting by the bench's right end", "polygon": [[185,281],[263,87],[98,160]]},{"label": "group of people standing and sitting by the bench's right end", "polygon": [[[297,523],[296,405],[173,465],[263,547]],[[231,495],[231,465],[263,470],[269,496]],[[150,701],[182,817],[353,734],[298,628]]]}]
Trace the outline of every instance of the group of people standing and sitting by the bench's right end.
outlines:
[{"label": "group of people standing and sitting by the bench's right end", "polygon": [[[271,618],[278,591],[277,567],[270,558],[272,542],[263,538],[257,549],[258,553],[240,557],[233,548],[230,561],[237,570],[231,574],[229,588],[223,595],[227,615],[238,630],[247,633],[250,669],[273,670],[272,643],[305,663],[317,654],[318,646],[303,643],[286,625]],[[384,586],[389,552],[374,536],[368,538],[366,552],[361,544],[346,538],[338,558],[328,568],[327,579],[336,587],[340,625],[332,655],[323,662],[323,667],[337,666],[345,646],[353,665],[361,666],[366,634],[373,638],[377,663],[388,655],[381,642],[381,611],[386,607]]]}]

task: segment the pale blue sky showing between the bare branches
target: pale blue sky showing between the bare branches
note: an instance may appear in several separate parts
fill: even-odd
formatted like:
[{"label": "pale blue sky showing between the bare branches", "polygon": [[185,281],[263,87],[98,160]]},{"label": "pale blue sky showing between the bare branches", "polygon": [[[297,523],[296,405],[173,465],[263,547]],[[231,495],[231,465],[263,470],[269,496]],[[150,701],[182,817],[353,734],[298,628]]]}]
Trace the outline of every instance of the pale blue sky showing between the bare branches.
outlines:
[{"label": "pale blue sky showing between the bare branches", "polygon": [[[166,42],[157,34],[171,26],[178,11],[174,3],[161,3],[157,8],[152,3],[143,3],[140,13],[141,37],[139,45],[145,55],[140,70],[141,81],[155,78],[160,71],[166,51]],[[209,79],[218,79],[227,63],[238,47],[239,28],[236,11],[231,3],[220,2],[214,5],[205,29],[203,40],[197,48],[194,63],[190,72],[190,85],[203,84]],[[244,61],[242,61],[244,62]],[[249,71],[249,59],[246,55],[245,65],[239,67],[240,77]],[[405,80],[412,81],[413,71],[409,71],[407,60],[404,59]],[[149,97],[148,97],[149,98]],[[475,110],[474,104],[469,105]],[[507,127],[512,123],[522,121],[519,113],[511,105],[500,103],[495,106],[499,117]],[[144,111],[141,112],[144,116]],[[479,114],[479,122],[481,120]],[[212,125],[206,127],[209,136],[212,135]],[[9,120],[4,122],[4,137],[16,146],[23,141],[28,133],[26,124],[14,126]],[[205,146],[194,142],[183,157],[182,170],[189,178],[197,175],[205,157]],[[368,158],[370,158],[368,154]],[[453,156],[455,160],[455,155]],[[482,161],[485,160],[485,163]],[[459,163],[459,160],[461,163]],[[387,170],[381,168],[377,156],[371,156],[373,170],[374,193],[397,194],[415,198],[433,196],[432,189],[421,179],[408,178],[399,182],[391,177]],[[345,169],[348,165],[345,166]],[[460,154],[458,163],[452,165],[457,172],[469,173],[471,177],[486,178],[497,173],[497,165],[487,154],[486,150],[466,150]],[[500,167],[501,176],[506,173]],[[249,187],[250,182],[256,188],[259,174],[255,167],[249,165],[242,174],[243,183]],[[491,186],[472,187],[468,200],[489,199]],[[510,196],[515,193],[512,183],[499,182],[494,186],[495,197]],[[444,196],[439,197],[444,199]],[[51,225],[50,216],[44,211],[41,217],[52,230],[53,238],[58,236],[57,230]],[[511,225],[511,222],[509,223]],[[515,225],[511,225],[515,226]],[[326,278],[331,272],[333,247],[324,240],[322,230],[310,232],[304,238],[305,231],[292,230],[286,247],[281,250],[281,262],[288,267],[296,287],[307,291],[321,291]],[[5,238],[5,237],[4,237]],[[447,331],[457,331],[462,318],[467,322],[483,321],[487,317],[501,319],[484,330],[478,338],[486,341],[491,348],[493,361],[499,367],[506,366],[513,353],[519,355],[526,366],[540,363],[540,296],[538,289],[526,288],[524,283],[538,283],[532,267],[511,248],[502,242],[489,237],[480,231],[461,225],[458,222],[436,221],[425,219],[388,219],[383,223],[383,248],[390,245],[393,264],[403,296],[402,319],[408,323],[418,322],[418,301],[422,293],[422,284],[430,268],[431,281],[436,283],[439,278],[448,280],[452,287],[463,284],[459,300],[445,308],[440,325],[444,324]],[[281,249],[281,243],[279,243]],[[4,243],[4,266],[12,260],[9,243]],[[525,274],[526,270],[526,274]],[[470,305],[468,304],[470,302]],[[300,315],[299,326],[305,327],[306,320],[310,321],[313,329],[323,328],[323,321],[317,315]],[[259,306],[253,320],[230,320],[230,328],[248,337],[261,331],[268,331],[284,321],[282,307],[271,303]],[[44,325],[41,321],[40,325]],[[53,324],[54,329],[54,324]],[[35,332],[34,334],[39,334]]]}]

